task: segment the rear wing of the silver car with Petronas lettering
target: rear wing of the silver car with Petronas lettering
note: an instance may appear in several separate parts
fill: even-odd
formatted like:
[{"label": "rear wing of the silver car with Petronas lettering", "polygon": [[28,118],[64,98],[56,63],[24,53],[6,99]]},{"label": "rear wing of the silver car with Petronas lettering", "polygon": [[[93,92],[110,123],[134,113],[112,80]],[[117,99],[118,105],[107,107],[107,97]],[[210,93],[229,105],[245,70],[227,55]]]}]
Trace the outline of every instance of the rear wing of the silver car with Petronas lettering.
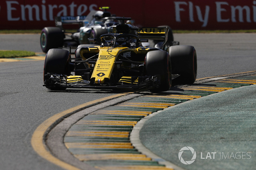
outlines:
[{"label": "rear wing of the silver car with Petronas lettering", "polygon": [[83,26],[84,19],[86,16],[58,16],[54,17],[55,26],[60,27],[63,30],[63,25],[73,25],[78,24],[79,26]]}]

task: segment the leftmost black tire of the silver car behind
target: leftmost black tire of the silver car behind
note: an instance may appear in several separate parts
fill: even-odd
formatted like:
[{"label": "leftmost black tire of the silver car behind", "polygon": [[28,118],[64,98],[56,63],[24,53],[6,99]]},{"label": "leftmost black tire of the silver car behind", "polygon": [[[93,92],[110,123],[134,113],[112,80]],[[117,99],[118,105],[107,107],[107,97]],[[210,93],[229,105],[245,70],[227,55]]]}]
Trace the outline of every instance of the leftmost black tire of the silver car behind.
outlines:
[{"label": "leftmost black tire of the silver car behind", "polygon": [[62,47],[64,37],[59,27],[44,27],[40,36],[40,46],[43,52],[47,53],[49,49]]}]

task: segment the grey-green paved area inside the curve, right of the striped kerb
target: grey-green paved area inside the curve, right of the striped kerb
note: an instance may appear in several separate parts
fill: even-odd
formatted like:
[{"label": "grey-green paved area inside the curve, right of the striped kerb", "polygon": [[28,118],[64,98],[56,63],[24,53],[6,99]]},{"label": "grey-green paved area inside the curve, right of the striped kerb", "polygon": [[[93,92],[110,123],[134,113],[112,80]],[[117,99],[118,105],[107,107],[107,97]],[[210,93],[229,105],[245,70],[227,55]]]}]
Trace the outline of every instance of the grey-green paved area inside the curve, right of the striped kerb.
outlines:
[{"label": "grey-green paved area inside the curve, right of the striped kerb", "polygon": [[[184,169],[255,169],[255,94],[256,85],[250,85],[169,107],[144,123],[140,140]],[[178,156],[186,146],[196,151],[190,165]],[[192,156],[189,150],[182,153],[186,161]]]}]

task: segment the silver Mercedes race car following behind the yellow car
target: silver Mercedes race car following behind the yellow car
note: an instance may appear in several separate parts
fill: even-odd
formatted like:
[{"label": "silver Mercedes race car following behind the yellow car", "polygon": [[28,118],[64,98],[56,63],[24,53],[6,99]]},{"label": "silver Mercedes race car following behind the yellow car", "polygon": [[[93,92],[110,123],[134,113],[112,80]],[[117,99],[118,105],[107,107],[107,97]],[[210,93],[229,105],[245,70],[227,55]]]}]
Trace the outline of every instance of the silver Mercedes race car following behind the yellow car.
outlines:
[{"label": "silver Mercedes race car following behind the yellow car", "polygon": [[[41,31],[40,46],[43,52],[51,48],[74,47],[89,43],[88,38],[97,38],[109,33],[109,27],[120,24],[115,15],[107,11],[109,7],[100,7],[103,11],[91,11],[87,16],[55,17],[56,27],[44,27]],[[67,32],[63,25],[79,25],[77,32]]]}]

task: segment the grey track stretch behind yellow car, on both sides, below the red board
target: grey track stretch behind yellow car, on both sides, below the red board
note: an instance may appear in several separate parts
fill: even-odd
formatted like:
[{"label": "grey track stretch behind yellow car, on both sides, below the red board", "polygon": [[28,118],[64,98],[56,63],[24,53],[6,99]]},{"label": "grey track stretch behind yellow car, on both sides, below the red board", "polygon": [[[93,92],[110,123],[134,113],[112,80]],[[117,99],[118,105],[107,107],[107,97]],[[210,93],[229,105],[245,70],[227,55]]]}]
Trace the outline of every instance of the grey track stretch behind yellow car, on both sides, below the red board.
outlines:
[{"label": "grey track stretch behind yellow car, on both sides, below the red board", "polygon": [[[197,52],[197,78],[256,70],[256,33],[174,33]],[[40,34],[0,34],[0,50],[42,52]]]}]

